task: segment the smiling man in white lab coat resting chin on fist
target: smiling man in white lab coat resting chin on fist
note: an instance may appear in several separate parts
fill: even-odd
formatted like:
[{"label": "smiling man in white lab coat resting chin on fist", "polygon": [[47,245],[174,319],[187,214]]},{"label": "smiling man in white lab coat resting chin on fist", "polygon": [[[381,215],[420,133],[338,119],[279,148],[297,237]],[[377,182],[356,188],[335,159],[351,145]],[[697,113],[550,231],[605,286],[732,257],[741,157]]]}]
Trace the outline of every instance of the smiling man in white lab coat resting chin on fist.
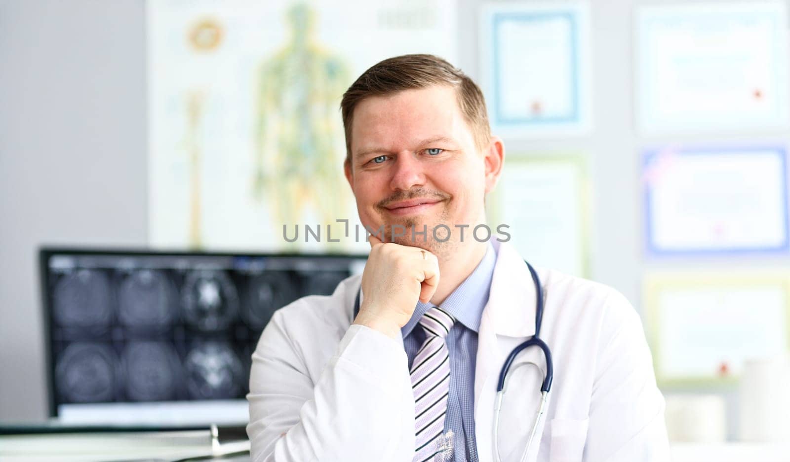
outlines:
[{"label": "smiling man in white lab coat resting chin on fist", "polygon": [[359,218],[381,233],[361,278],[276,311],[262,333],[252,460],[669,460],[633,307],[540,268],[553,388],[525,453],[547,362],[540,348],[521,352],[493,441],[498,375],[536,333],[538,293],[529,255],[472,236],[505,158],[480,88],[440,58],[407,55],[363,73],[341,108],[345,176]]}]

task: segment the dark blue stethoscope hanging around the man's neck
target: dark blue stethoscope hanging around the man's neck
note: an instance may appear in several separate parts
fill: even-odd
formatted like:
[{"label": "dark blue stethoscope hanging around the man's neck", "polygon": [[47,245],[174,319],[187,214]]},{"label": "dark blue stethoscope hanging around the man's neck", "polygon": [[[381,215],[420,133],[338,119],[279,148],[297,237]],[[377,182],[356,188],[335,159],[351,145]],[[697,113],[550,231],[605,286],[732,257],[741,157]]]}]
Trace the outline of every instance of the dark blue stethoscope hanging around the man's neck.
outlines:
[{"label": "dark blue stethoscope hanging around the man's neck", "polygon": [[[527,262],[525,262],[527,263]],[[536,293],[536,306],[535,306],[535,335],[529,338],[528,341],[525,341],[521,345],[518,345],[516,348],[513,348],[513,351],[510,352],[510,355],[507,356],[507,360],[502,365],[502,371],[499,371],[499,381],[497,382],[496,386],[496,398],[494,401],[494,454],[496,456],[496,462],[501,462],[502,458],[499,456],[499,444],[498,444],[498,429],[499,429],[499,410],[502,408],[502,397],[505,396],[505,389],[507,385],[507,378],[508,372],[510,371],[510,366],[513,364],[513,360],[516,359],[518,353],[525,350],[525,348],[529,348],[532,346],[540,347],[540,349],[544,352],[544,356],[546,358],[546,377],[544,378],[543,384],[540,386],[540,407],[538,408],[538,413],[535,417],[535,423],[532,425],[532,431],[529,433],[529,440],[527,440],[527,446],[524,449],[524,453],[521,454],[521,462],[527,457],[529,454],[529,449],[532,447],[532,442],[535,440],[535,436],[537,434],[538,427],[540,426],[540,418],[546,412],[546,403],[548,401],[548,395],[551,393],[551,381],[554,379],[554,363],[551,362],[551,350],[548,348],[548,345],[542,340],[540,340],[540,326],[543,323],[543,309],[544,309],[544,292],[543,288],[540,285],[540,278],[538,278],[538,274],[535,271],[535,268],[532,268],[532,265],[527,263],[527,267],[529,268],[529,273],[532,274],[532,282],[535,284],[535,293]],[[357,313],[359,313],[359,290],[356,292],[356,300],[354,301],[354,316],[356,317]],[[536,365],[535,363],[521,363],[518,364],[516,367],[513,368],[515,371],[518,367],[525,366],[527,364]]]}]

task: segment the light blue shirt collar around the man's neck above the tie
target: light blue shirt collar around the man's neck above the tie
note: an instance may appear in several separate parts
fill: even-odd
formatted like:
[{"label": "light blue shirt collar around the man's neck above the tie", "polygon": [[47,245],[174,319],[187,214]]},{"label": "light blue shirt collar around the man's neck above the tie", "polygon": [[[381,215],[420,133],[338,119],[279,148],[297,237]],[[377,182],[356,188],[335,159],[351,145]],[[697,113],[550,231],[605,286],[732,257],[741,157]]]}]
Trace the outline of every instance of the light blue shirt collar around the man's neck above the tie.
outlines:
[{"label": "light blue shirt collar around the man's neck above the tie", "polygon": [[[457,322],[461,322],[468,329],[477,332],[480,329],[480,318],[483,315],[483,308],[488,302],[488,295],[491,292],[491,278],[494,275],[496,264],[496,251],[488,242],[486,254],[480,260],[477,267],[469,277],[465,279],[453,290],[453,292],[440,305],[442,310],[450,313]],[[423,304],[418,301],[412,313],[412,318],[405,326],[401,327],[403,337],[407,337],[419,322],[423,315],[434,307],[433,304]]]}]

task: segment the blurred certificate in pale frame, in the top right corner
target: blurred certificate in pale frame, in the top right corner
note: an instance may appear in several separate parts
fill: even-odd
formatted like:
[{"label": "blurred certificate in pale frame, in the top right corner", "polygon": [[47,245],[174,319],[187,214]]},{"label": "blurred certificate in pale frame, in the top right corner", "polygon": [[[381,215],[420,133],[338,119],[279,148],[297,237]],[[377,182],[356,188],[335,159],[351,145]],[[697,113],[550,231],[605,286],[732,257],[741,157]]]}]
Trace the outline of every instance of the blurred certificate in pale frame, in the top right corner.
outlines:
[{"label": "blurred certificate in pale frame, in the top right corner", "polygon": [[634,22],[641,132],[788,127],[784,2],[641,6]]}]

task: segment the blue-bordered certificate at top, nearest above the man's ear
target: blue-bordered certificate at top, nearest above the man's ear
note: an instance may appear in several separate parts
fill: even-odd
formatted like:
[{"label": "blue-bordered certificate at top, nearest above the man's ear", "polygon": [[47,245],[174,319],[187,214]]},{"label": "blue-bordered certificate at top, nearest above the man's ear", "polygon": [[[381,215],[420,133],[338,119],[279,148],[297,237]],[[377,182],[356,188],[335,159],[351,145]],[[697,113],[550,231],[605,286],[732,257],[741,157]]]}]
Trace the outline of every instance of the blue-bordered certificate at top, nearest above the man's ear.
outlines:
[{"label": "blue-bordered certificate at top, nearest above the man's ear", "polygon": [[587,3],[491,4],[480,17],[492,130],[525,137],[589,131]]}]

